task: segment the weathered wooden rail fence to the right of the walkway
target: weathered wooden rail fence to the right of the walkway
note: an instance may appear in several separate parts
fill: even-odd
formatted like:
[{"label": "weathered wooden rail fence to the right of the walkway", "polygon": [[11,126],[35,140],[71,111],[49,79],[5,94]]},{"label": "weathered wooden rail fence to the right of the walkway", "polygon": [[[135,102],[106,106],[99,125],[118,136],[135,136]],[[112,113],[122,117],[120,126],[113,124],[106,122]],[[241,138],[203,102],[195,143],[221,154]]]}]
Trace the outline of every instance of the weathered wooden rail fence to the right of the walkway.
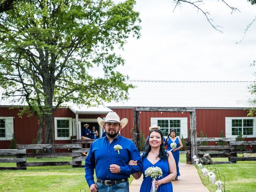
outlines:
[{"label": "weathered wooden rail fence to the right of the walkway", "polygon": [[[255,146],[256,141],[236,141],[236,138],[197,138],[197,156],[201,158],[208,153],[211,157],[228,157],[227,162],[214,164],[236,163],[236,161],[255,161],[256,157],[238,157],[237,154],[256,153],[256,149],[238,149],[237,146]],[[226,142],[226,145],[200,146],[200,142]],[[187,163],[192,164],[191,141],[186,139]]]}]

